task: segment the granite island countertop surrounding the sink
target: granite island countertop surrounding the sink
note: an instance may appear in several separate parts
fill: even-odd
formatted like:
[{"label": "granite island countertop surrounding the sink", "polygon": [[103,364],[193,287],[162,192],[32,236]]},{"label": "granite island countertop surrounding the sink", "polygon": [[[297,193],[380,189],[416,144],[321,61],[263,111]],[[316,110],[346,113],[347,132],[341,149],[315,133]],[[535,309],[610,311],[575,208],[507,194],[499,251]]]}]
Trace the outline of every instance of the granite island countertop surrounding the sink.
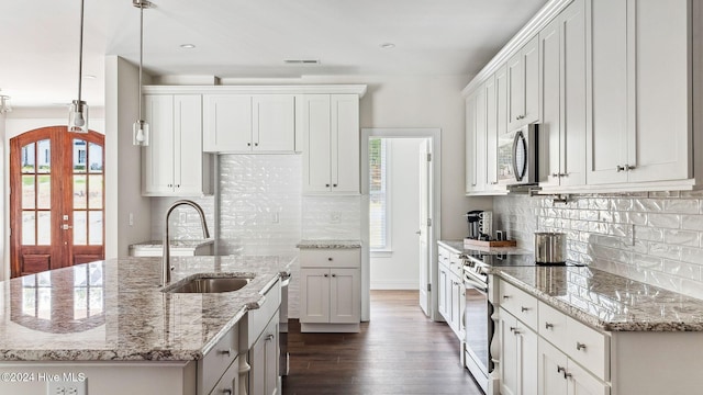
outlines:
[{"label": "granite island countertop surrounding the sink", "polygon": [[196,273],[253,275],[236,292],[163,293],[160,258],[78,264],[0,282],[0,361],[188,361],[203,357],[289,270],[294,256],[174,257]]}]

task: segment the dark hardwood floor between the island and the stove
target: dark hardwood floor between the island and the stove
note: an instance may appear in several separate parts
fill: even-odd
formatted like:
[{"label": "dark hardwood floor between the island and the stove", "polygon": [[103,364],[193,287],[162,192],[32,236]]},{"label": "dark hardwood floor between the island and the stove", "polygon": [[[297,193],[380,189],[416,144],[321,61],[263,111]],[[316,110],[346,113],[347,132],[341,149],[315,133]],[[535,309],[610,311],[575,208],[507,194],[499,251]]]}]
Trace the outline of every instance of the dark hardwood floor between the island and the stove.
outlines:
[{"label": "dark hardwood floor between the island and the stove", "polygon": [[481,390],[459,363],[459,341],[433,323],[416,291],[372,291],[359,334],[301,334],[289,324],[283,394],[461,394]]}]

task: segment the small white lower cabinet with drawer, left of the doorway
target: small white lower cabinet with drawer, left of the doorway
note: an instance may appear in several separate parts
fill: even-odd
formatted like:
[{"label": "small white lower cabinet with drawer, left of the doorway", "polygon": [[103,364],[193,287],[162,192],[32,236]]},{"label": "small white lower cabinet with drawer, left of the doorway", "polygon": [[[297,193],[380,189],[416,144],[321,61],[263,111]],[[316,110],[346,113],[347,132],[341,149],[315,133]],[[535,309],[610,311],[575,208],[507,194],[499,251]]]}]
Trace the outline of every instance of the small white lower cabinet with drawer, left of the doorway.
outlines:
[{"label": "small white lower cabinet with drawer, left of the doorway", "polygon": [[360,249],[301,249],[301,331],[359,331]]}]

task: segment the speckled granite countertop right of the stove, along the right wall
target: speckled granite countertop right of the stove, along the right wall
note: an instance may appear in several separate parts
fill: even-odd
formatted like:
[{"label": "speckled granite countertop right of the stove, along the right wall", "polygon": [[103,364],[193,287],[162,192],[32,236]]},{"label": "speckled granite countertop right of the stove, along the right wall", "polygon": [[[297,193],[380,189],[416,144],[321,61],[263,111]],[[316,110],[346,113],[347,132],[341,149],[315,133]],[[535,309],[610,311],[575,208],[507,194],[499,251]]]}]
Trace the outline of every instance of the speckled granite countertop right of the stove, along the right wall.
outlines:
[{"label": "speckled granite countertop right of the stove, along the right wall", "polygon": [[588,267],[493,268],[505,281],[606,331],[703,331],[703,301]]}]

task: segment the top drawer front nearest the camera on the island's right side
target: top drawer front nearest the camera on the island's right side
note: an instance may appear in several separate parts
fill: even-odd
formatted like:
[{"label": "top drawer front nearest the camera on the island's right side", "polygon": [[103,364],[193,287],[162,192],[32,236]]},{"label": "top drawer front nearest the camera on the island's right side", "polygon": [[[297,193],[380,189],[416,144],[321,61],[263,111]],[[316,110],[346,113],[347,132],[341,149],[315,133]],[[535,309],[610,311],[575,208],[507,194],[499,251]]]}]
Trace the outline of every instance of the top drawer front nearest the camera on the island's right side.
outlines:
[{"label": "top drawer front nearest the camera on the island's right side", "polygon": [[235,325],[198,362],[199,394],[210,394],[220,377],[237,358],[239,326]]}]

